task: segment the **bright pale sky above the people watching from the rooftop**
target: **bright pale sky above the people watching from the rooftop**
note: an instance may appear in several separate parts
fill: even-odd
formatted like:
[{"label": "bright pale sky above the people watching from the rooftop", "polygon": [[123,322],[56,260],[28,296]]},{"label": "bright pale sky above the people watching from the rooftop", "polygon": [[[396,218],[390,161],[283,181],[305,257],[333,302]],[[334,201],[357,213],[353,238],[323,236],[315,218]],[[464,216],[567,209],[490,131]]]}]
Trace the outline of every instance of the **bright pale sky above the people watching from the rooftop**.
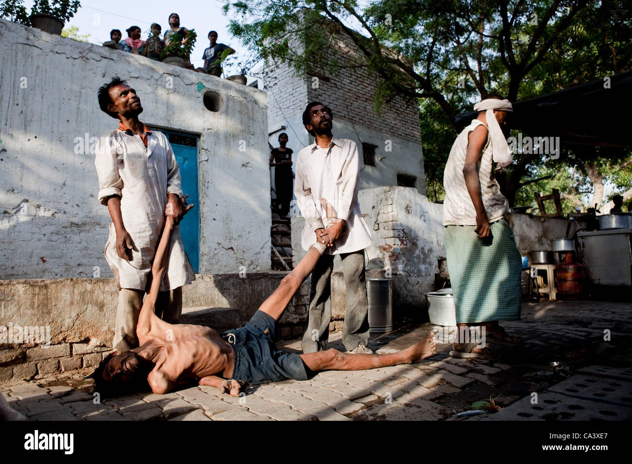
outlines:
[{"label": "bright pale sky above the people watching from the rooftop", "polygon": [[[127,37],[125,30],[132,26],[138,26],[142,30],[142,39],[147,39],[151,23],[158,23],[162,27],[162,33],[169,28],[169,15],[178,13],[180,25],[187,29],[195,29],[197,42],[191,52],[191,63],[198,68],[204,64],[202,53],[209,46],[207,35],[210,30],[216,30],[219,34],[217,42],[230,45],[236,51],[236,59],[240,61],[250,56],[250,52],[228,32],[229,18],[224,16],[223,0],[205,1],[179,1],[154,0],[152,2],[133,2],[129,0],[109,0],[107,2],[97,0],[82,0],[81,8],[75,16],[64,25],[64,28],[76,26],[79,35],[87,35],[88,41],[94,44],[102,44],[110,40],[110,31],[120,29],[123,39]],[[33,4],[32,0],[25,1],[27,10]],[[226,66],[228,74],[238,74],[240,69],[236,64]]]}]

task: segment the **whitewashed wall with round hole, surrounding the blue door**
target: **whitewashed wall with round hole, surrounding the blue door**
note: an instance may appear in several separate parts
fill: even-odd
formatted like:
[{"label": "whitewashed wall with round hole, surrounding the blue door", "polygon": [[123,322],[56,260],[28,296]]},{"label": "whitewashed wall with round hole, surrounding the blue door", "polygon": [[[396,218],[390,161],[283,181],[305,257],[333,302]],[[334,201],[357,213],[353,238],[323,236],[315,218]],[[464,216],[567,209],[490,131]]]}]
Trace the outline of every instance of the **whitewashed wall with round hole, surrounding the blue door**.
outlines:
[{"label": "whitewashed wall with round hole, surrounding the blue door", "polygon": [[97,103],[114,75],[137,90],[143,122],[199,136],[200,273],[269,270],[265,92],[4,20],[0,61],[0,279],[93,277],[94,266],[111,277],[94,153],[76,153],[75,139],[118,127]]}]

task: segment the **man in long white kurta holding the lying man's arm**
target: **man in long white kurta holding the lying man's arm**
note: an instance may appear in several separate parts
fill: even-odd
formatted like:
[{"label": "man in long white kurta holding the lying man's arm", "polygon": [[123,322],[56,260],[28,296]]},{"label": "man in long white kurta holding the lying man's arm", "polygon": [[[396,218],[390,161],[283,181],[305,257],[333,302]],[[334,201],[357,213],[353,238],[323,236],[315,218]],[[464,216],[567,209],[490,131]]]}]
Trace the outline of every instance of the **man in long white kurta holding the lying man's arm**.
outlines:
[{"label": "man in long white kurta holding the lying man's arm", "polygon": [[[164,228],[167,205],[181,218],[183,191],[175,155],[165,134],[149,131],[138,121],[140,98],[125,81],[113,80],[99,91],[99,104],[119,119],[119,128],[102,136],[95,147],[99,202],[112,222],[106,260],[119,287],[112,347],[138,346],[136,326],[151,273],[155,249]],[[110,83],[110,84],[112,84]],[[111,104],[108,104],[109,101]],[[133,131],[130,126],[133,126]],[[168,209],[168,208],[167,208]],[[182,285],[195,274],[186,256],[179,227],[171,236],[167,271],[162,279],[157,315],[177,323],[182,311]],[[159,307],[158,307],[159,306]]]}]

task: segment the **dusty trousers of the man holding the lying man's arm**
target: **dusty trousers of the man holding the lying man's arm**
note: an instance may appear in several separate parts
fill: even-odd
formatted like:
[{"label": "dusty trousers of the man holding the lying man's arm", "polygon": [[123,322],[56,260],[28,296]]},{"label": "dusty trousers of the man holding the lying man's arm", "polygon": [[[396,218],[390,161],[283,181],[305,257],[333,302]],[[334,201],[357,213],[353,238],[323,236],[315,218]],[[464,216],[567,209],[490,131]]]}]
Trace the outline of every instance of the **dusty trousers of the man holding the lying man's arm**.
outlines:
[{"label": "dusty trousers of the man holding the lying man's arm", "polygon": [[[136,326],[138,314],[143,305],[143,290],[120,289],[119,302],[116,309],[116,326],[112,347],[119,351],[138,348]],[[166,292],[159,292],[156,300],[155,314],[169,324],[177,324],[182,314],[182,287]]]}]

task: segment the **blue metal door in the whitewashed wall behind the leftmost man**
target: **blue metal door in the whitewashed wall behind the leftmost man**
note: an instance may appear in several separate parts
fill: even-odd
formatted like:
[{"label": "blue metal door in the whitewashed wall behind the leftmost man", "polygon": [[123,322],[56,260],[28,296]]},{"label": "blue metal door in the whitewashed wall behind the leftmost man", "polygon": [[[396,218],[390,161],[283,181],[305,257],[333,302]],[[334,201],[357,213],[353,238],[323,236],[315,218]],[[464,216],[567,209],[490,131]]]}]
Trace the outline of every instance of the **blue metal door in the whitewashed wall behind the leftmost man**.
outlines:
[{"label": "blue metal door in the whitewashed wall behind the leftmost man", "polygon": [[191,134],[176,133],[158,129],[169,138],[169,143],[176,155],[182,177],[182,190],[189,198],[186,199],[193,209],[186,213],[180,222],[180,235],[185,245],[193,271],[200,270],[200,201],[198,194],[198,161],[197,137]]}]

